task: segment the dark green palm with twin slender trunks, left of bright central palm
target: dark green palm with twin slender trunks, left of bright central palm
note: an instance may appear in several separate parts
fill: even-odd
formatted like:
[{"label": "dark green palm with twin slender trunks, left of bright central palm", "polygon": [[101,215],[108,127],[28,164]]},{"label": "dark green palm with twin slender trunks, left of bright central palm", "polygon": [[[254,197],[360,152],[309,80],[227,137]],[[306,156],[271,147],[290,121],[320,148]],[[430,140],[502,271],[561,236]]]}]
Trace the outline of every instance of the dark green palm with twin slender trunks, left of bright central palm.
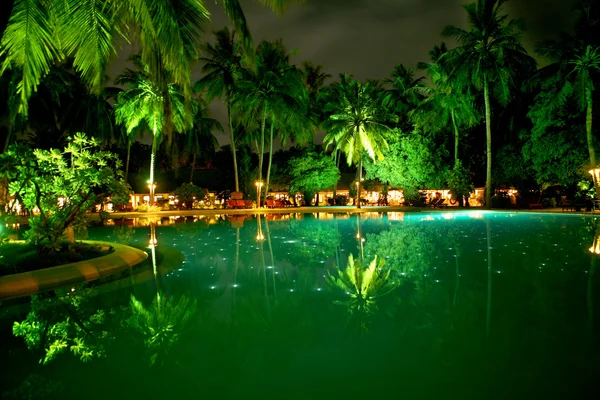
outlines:
[{"label": "dark green palm with twin slender trunks, left of bright central palm", "polygon": [[[306,117],[306,89],[301,72],[289,62],[289,55],[280,41],[260,43],[256,53],[256,69],[244,69],[238,84],[235,107],[246,121],[260,120],[260,150],[258,180],[262,181],[265,128],[270,124],[269,166],[264,185],[268,193],[275,126],[302,129]],[[260,206],[260,199],[258,200]]]}]

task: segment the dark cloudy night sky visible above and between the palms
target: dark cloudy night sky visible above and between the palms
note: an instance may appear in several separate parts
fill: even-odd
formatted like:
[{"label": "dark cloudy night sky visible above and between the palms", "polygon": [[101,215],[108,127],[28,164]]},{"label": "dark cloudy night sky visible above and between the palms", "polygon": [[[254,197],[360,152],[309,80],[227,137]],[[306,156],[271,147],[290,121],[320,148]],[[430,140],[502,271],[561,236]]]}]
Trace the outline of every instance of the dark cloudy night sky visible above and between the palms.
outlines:
[{"label": "dark cloudy night sky visible above and between the palms", "polygon": [[[334,77],[341,72],[360,80],[383,79],[393,66],[414,67],[428,60],[428,52],[443,38],[447,25],[466,28],[465,0],[306,0],[277,16],[254,0],[240,0],[254,40],[283,39],[288,50],[298,50],[293,61],[323,64]],[[526,25],[523,41],[533,44],[571,27],[575,0],[510,0],[505,12]],[[222,9],[207,1],[211,30],[227,19]],[[216,103],[216,102],[215,102]],[[224,108],[213,103],[213,115],[225,120]],[[219,135],[221,143],[226,135]]]}]

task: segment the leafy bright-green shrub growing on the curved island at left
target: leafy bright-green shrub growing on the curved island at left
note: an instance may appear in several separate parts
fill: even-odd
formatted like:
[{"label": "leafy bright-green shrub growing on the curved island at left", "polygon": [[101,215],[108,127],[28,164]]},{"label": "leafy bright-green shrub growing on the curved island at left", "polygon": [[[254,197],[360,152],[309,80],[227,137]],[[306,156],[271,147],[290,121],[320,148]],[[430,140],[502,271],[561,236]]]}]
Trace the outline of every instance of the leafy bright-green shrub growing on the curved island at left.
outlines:
[{"label": "leafy bright-green shrub growing on the curved island at left", "polygon": [[85,224],[86,211],[94,204],[107,196],[115,204],[129,198],[115,154],[100,151],[96,139],[83,133],[68,140],[62,151],[14,144],[0,155],[0,178],[9,180],[10,194],[36,210],[25,238],[40,253],[58,248],[65,231]]}]

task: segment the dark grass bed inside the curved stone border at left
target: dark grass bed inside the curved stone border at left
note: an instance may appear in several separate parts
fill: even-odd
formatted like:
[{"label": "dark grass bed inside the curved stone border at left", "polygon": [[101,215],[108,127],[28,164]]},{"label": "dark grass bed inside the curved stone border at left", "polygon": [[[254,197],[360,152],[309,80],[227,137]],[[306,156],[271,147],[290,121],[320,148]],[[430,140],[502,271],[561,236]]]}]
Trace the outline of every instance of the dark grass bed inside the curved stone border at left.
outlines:
[{"label": "dark grass bed inside the curved stone border at left", "polygon": [[0,276],[35,271],[77,261],[89,260],[113,252],[112,247],[86,243],[62,243],[59,251],[39,255],[34,245],[16,242],[0,246]]}]

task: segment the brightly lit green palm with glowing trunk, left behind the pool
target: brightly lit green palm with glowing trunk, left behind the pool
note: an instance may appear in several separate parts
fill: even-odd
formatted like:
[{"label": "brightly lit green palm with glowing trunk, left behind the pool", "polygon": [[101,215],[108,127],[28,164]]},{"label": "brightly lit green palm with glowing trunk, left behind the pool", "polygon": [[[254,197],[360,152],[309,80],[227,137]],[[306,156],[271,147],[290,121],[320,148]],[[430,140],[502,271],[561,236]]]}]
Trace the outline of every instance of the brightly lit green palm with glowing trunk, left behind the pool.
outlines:
[{"label": "brightly lit green palm with glowing trunk, left behind the pool", "polygon": [[[154,204],[154,169],[162,129],[165,124],[165,99],[160,88],[154,83],[149,68],[139,57],[133,57],[136,69],[127,69],[116,79],[117,84],[127,85],[128,90],[121,92],[115,104],[115,117],[118,124],[123,124],[128,134],[140,125],[152,132],[152,153],[150,156],[150,204]],[[186,127],[184,97],[180,88],[169,84],[168,101],[172,105],[173,121],[176,128],[183,132]]]}]

